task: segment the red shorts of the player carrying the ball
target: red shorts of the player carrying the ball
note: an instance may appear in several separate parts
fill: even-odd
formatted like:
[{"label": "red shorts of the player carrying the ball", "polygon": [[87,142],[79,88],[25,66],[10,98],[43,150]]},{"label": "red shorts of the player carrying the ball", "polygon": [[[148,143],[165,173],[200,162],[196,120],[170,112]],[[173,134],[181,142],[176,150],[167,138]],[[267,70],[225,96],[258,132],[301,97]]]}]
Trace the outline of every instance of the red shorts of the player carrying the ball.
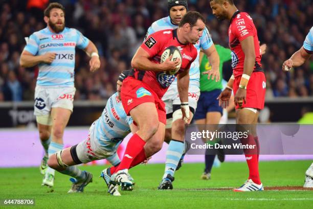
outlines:
[{"label": "red shorts of the player carrying the ball", "polygon": [[129,115],[130,110],[142,103],[155,103],[155,107],[157,108],[159,115],[159,121],[166,124],[166,111],[164,102],[144,82],[133,77],[127,77],[123,81],[121,99],[122,105],[127,115]]}]

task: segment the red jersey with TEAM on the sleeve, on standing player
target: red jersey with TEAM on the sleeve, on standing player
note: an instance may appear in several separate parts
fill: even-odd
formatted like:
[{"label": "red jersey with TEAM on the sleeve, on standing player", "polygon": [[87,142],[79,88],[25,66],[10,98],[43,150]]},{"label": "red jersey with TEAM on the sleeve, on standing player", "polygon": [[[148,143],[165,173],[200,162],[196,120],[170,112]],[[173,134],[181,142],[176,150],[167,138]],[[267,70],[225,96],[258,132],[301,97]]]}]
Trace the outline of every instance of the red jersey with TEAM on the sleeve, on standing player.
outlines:
[{"label": "red jersey with TEAM on the sleeve, on standing player", "polygon": [[232,68],[235,77],[242,75],[244,53],[240,41],[253,36],[255,48],[255,65],[253,72],[262,71],[261,50],[257,30],[253,24],[252,18],[248,13],[237,11],[230,20],[229,26],[229,47],[232,50]]}]

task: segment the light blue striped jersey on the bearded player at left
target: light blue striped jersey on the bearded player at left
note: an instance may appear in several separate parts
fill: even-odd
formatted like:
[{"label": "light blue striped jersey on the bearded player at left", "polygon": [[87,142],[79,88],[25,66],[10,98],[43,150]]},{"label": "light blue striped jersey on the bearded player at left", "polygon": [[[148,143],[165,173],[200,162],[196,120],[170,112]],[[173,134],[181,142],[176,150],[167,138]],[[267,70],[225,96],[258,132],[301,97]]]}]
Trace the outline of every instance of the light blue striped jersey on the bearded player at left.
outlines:
[{"label": "light blue striped jersey on the bearded player at left", "polygon": [[48,27],[34,32],[24,50],[33,55],[56,53],[51,64],[38,65],[37,86],[74,87],[75,47],[84,49],[88,44],[89,39],[73,28],[64,28],[60,33],[53,33]]}]

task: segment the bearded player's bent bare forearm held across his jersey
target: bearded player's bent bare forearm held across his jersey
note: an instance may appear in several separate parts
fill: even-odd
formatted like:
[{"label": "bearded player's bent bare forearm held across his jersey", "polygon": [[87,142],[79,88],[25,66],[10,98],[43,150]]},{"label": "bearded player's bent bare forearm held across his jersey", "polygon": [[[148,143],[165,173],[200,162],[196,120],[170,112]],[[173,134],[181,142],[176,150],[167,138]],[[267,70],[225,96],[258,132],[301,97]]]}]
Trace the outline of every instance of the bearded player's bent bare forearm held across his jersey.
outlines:
[{"label": "bearded player's bent bare forearm held across his jersey", "polygon": [[30,52],[24,50],[19,59],[19,65],[24,68],[30,68],[38,65],[41,62],[51,64],[55,59],[56,53],[47,52],[43,55],[33,55]]}]

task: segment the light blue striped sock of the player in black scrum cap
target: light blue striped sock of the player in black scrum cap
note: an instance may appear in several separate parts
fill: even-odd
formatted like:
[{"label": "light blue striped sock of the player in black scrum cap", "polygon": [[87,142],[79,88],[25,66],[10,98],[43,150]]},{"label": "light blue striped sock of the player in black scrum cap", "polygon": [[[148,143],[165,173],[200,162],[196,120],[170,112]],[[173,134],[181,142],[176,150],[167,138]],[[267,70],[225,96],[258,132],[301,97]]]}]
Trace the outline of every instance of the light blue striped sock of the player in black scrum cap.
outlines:
[{"label": "light blue striped sock of the player in black scrum cap", "polygon": [[177,168],[177,164],[180,161],[185,150],[185,144],[183,141],[172,139],[166,151],[165,172],[163,178],[166,178],[168,174],[174,177],[174,173]]}]

